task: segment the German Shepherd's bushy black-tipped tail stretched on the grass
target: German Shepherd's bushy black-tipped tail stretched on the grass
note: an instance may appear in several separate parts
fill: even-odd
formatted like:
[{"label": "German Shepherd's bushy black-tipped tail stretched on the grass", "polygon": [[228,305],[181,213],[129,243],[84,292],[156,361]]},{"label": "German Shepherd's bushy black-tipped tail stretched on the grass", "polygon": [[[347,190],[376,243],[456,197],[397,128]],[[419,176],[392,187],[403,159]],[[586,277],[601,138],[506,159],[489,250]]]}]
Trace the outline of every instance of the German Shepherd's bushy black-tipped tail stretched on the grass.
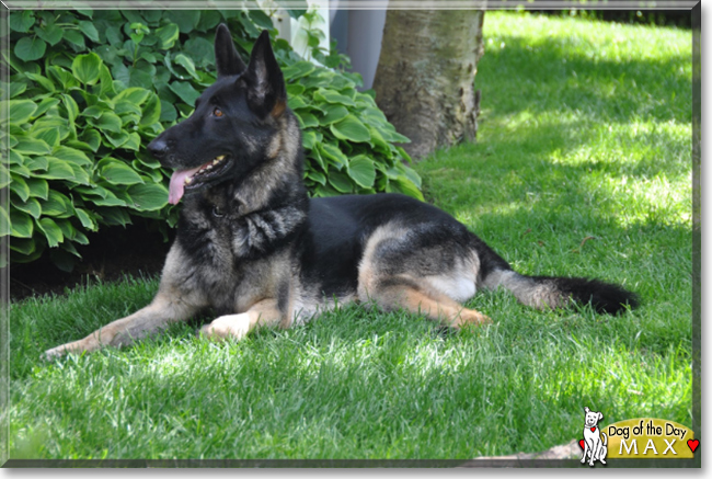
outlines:
[{"label": "German Shepherd's bushy black-tipped tail stretched on the grass", "polygon": [[573,300],[582,305],[590,304],[597,312],[615,315],[640,305],[635,293],[616,284],[584,277],[519,274],[482,240],[476,237],[474,240],[480,259],[478,284],[492,290],[504,287],[527,306],[559,308]]}]

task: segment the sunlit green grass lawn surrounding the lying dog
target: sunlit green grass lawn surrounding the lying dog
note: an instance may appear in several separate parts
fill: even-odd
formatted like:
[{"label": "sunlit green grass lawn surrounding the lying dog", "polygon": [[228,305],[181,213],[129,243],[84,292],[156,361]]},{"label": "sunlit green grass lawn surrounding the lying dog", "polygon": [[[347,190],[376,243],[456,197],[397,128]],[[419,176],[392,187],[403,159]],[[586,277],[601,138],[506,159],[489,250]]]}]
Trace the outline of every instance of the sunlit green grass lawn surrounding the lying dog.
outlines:
[{"label": "sunlit green grass lawn surrounding the lying dog", "polygon": [[[653,417],[691,425],[691,33],[485,14],[476,145],[416,168],[520,272],[638,292],[620,317],[505,292],[459,334],[357,306],[221,344],[200,320],[53,363],[146,305],[128,278],[12,305],[11,458],[471,458]],[[204,318],[206,319],[206,318]]]}]

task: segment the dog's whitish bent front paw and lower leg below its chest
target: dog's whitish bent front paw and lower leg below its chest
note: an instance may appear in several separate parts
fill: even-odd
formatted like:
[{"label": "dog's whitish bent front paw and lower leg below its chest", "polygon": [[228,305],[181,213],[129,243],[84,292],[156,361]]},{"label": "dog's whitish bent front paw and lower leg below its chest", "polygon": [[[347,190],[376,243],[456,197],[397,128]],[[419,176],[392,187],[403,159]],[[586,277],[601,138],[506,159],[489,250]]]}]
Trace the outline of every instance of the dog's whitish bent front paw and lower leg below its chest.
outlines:
[{"label": "dog's whitish bent front paw and lower leg below its chest", "polygon": [[279,324],[283,317],[276,299],[263,299],[252,305],[246,312],[220,316],[209,324],[205,324],[200,333],[210,339],[240,340],[255,328]]}]

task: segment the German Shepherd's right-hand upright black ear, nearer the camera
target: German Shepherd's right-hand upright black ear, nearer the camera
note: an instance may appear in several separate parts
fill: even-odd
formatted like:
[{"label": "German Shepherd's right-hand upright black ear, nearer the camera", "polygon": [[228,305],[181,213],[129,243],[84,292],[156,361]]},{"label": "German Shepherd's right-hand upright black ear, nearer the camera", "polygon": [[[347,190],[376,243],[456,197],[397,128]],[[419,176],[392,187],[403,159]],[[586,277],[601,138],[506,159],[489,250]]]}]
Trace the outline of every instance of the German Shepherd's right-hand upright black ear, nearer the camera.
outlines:
[{"label": "German Shepherd's right-hand upright black ear, nearer the camera", "polygon": [[248,71],[241,77],[248,87],[248,104],[261,117],[280,116],[287,107],[285,79],[277,64],[269,33],[265,30],[252,47]]}]

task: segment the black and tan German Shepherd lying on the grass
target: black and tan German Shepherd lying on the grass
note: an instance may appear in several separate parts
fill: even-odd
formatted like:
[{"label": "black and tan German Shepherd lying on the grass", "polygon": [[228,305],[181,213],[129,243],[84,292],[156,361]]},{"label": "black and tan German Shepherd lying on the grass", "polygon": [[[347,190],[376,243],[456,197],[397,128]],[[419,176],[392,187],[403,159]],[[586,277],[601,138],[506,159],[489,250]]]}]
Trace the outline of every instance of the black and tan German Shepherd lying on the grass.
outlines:
[{"label": "black and tan German Shepherd lying on the grass", "polygon": [[175,170],[169,202],[183,203],[156,298],[47,357],[126,345],[207,308],[219,317],[200,333],[240,339],[349,301],[452,328],[484,324],[490,318],[460,305],[478,288],[504,287],[539,309],[636,306],[617,285],[518,274],[450,215],[407,196],[310,199],[299,124],[267,32],[245,66],[220,25],[215,55],[217,81],[195,112],[148,145]]}]

